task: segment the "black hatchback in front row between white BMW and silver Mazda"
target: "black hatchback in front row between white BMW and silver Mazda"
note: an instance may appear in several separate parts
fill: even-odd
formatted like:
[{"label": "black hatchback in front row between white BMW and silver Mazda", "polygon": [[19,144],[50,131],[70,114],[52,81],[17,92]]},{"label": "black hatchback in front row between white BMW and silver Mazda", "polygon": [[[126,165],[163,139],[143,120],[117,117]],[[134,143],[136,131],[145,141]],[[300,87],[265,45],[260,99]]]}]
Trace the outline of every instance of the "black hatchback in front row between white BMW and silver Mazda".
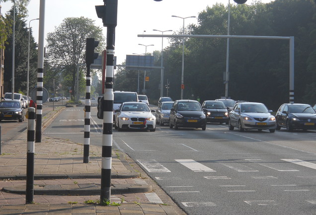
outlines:
[{"label": "black hatchback in front row between white BMW and silver Mazda", "polygon": [[170,128],[179,127],[206,129],[206,116],[198,101],[176,100],[170,110]]}]

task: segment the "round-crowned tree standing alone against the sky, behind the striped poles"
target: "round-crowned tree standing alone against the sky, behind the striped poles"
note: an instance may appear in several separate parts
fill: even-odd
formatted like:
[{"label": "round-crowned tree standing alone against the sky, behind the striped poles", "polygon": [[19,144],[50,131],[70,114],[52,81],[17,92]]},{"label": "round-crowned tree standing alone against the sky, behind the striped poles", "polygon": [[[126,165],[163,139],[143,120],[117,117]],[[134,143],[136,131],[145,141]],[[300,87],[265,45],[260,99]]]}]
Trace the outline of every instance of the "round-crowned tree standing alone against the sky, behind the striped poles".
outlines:
[{"label": "round-crowned tree standing alone against the sky, behind the striped poles", "polygon": [[[100,41],[96,51],[100,52],[104,47],[102,28],[83,16],[65,18],[54,32],[47,35],[47,59],[52,67],[59,68],[65,90],[68,87],[75,89],[77,64],[85,61],[86,38]],[[72,94],[75,95],[75,90]]]}]

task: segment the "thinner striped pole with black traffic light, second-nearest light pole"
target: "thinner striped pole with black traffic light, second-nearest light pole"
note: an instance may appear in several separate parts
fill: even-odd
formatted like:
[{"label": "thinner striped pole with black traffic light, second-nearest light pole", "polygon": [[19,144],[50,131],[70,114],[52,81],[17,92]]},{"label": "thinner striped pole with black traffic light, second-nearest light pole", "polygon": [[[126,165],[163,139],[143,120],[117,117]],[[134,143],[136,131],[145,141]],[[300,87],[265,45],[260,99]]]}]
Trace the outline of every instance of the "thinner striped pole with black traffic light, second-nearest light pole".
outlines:
[{"label": "thinner striped pole with black traffic light, second-nearest light pole", "polygon": [[94,59],[98,57],[98,53],[94,52],[94,48],[97,47],[99,41],[94,38],[86,38],[85,45],[85,64],[86,64],[86,93],[85,93],[85,105],[84,105],[84,145],[83,145],[83,163],[89,163],[89,147],[90,147],[90,65],[94,62]]}]

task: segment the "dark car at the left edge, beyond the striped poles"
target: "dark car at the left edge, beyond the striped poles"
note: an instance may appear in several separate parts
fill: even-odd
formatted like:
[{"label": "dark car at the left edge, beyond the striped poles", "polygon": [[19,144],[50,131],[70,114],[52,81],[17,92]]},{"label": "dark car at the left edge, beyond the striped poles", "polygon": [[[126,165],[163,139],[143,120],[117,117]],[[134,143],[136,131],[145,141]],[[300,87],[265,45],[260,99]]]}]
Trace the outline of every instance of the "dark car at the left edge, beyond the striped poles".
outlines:
[{"label": "dark car at the left edge, beyond the striped poles", "polygon": [[19,101],[0,102],[0,121],[1,120],[24,120],[24,108]]}]

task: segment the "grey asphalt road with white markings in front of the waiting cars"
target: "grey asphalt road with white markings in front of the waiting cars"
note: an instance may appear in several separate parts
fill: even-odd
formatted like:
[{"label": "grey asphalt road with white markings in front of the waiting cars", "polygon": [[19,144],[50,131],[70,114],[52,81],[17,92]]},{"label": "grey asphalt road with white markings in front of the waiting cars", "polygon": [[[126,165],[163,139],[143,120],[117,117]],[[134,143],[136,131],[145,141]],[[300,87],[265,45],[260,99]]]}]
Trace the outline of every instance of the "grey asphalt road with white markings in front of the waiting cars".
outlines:
[{"label": "grey asphalt road with white markings in front of the waiting cars", "polygon": [[[90,144],[102,144],[91,101]],[[45,135],[83,143],[83,107],[66,108]],[[132,157],[188,215],[315,215],[316,132],[230,131],[224,124],[156,132],[113,129]]]}]

